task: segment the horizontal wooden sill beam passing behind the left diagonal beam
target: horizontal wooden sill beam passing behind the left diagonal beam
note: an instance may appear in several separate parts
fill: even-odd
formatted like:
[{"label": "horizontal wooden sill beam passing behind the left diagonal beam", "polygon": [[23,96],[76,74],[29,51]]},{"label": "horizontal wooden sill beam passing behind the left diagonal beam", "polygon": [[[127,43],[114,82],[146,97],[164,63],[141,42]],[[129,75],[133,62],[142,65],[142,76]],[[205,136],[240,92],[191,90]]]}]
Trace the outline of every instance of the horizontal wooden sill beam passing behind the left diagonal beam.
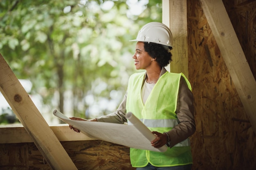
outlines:
[{"label": "horizontal wooden sill beam passing behind the left diagonal beam", "polygon": [[[87,141],[95,140],[83,133],[70,130],[67,124],[50,126],[59,141]],[[34,142],[22,125],[0,126],[0,144],[17,144]]]}]

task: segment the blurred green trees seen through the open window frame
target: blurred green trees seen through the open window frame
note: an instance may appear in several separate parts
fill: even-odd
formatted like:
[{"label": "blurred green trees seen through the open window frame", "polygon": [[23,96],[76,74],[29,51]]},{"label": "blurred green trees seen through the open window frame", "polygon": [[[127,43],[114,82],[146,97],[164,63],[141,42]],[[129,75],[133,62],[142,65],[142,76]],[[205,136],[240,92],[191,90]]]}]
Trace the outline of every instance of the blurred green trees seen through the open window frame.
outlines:
[{"label": "blurred green trees seen through the open window frame", "polygon": [[92,118],[118,107],[144,24],[162,22],[159,0],[1,0],[0,53],[47,122],[55,108]]}]

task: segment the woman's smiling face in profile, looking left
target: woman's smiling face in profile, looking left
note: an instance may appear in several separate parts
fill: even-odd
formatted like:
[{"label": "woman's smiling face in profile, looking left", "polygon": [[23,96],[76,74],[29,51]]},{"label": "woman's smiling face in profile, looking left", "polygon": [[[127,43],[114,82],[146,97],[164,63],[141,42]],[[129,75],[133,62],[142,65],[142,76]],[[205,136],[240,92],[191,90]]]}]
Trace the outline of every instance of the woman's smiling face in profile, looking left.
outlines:
[{"label": "woman's smiling face in profile, looking left", "polygon": [[137,42],[132,58],[134,59],[135,68],[137,70],[146,70],[152,63],[152,57],[144,50],[144,42]]}]

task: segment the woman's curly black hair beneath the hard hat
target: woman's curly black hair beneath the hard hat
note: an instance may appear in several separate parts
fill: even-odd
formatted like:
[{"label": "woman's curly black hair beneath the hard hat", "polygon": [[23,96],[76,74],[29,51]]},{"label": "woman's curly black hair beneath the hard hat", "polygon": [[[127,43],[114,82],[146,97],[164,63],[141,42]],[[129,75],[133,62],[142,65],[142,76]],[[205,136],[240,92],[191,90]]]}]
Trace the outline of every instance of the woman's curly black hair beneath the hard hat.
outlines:
[{"label": "woman's curly black hair beneath the hard hat", "polygon": [[[171,50],[172,47],[168,46]],[[154,58],[155,61],[162,67],[167,66],[172,61],[172,54],[164,48],[163,45],[157,44],[154,42],[144,42],[144,49],[150,55],[150,57]]]}]

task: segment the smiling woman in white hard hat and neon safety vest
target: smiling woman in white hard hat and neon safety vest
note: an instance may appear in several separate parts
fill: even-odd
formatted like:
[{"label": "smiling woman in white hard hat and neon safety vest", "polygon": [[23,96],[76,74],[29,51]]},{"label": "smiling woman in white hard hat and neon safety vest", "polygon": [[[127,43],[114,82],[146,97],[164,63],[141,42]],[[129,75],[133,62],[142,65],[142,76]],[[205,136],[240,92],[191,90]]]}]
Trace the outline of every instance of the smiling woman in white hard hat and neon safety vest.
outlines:
[{"label": "smiling woman in white hard hat and neon safety vest", "polygon": [[132,166],[137,170],[190,170],[189,136],[195,132],[193,94],[182,73],[169,73],[164,68],[172,56],[171,31],[162,23],[150,22],[131,41],[137,41],[132,56],[135,68],[146,72],[131,75],[126,95],[114,113],[88,121],[123,124],[126,113],[132,112],[155,134],[152,146],[168,146],[166,152],[130,148]]}]

